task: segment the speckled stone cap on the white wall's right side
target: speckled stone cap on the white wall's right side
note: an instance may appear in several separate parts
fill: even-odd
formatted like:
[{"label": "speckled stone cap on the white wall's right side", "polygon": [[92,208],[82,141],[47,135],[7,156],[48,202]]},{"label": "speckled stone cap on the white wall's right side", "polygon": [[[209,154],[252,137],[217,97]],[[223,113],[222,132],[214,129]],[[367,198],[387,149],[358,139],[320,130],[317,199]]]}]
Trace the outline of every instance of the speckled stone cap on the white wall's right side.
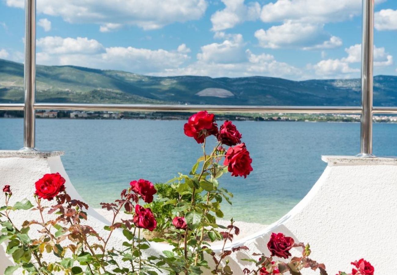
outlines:
[{"label": "speckled stone cap on the white wall's right side", "polygon": [[397,165],[397,157],[321,156],[329,166],[334,165]]}]

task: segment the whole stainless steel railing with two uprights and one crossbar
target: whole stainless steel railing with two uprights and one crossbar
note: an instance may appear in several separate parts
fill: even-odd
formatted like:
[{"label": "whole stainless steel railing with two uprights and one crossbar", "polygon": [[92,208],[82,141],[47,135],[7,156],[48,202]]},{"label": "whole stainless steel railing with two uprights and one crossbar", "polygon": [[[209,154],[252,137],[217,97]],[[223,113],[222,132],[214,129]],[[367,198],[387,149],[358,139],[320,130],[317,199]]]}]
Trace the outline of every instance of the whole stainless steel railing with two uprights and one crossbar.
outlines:
[{"label": "whole stainless steel railing with two uprights and one crossbar", "polygon": [[35,110],[107,110],[107,111],[170,111],[187,112],[208,110],[213,112],[283,112],[283,113],[339,113],[360,114],[360,154],[372,155],[372,115],[397,114],[397,107],[373,107],[373,49],[374,0],[362,0],[362,57],[361,107],[301,107],[301,106],[222,106],[222,105],[150,105],[150,104],[87,104],[87,103],[35,103],[36,83],[36,1],[25,0],[25,103],[0,104],[0,110],[24,111],[24,147],[35,149]]}]

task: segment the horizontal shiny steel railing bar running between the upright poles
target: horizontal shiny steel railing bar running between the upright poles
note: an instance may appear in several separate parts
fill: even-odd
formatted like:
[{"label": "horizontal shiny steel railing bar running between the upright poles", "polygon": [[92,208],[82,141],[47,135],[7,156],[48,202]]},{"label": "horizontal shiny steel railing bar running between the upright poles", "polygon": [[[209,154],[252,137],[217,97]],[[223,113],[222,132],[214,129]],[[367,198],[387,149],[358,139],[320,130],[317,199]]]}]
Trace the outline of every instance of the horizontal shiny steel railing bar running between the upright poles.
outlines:
[{"label": "horizontal shiny steel railing bar running between the upright poles", "polygon": [[[91,103],[35,103],[36,110],[85,110],[85,111],[162,111],[162,112],[264,112],[264,113],[323,113],[360,114],[361,107],[333,106],[230,106],[230,105],[151,105],[151,104],[91,104]],[[0,110],[23,111],[23,103],[0,103]],[[397,107],[373,107],[374,114],[397,114]]]}]

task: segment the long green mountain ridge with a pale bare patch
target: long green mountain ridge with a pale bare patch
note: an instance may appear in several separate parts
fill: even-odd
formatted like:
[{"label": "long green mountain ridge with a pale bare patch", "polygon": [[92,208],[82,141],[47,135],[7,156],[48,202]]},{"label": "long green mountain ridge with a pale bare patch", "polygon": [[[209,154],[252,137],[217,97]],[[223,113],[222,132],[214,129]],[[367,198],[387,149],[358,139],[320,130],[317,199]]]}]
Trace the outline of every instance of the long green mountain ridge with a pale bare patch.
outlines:
[{"label": "long green mountain ridge with a pale bare patch", "polygon": [[[360,79],[143,76],[76,66],[37,66],[37,102],[222,105],[360,105]],[[374,77],[374,105],[397,106],[397,76]],[[23,102],[23,64],[0,59],[0,102]]]}]

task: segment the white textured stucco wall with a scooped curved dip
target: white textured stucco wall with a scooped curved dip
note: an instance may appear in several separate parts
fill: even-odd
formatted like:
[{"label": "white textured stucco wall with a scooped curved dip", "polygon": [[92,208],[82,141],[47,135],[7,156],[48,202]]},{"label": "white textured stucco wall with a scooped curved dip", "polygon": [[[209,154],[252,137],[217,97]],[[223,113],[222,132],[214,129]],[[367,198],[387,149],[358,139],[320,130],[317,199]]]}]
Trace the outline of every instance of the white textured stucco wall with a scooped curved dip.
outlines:
[{"label": "white textured stucco wall with a scooped curved dip", "polygon": [[[328,167],[306,197],[278,222],[254,236],[240,240],[252,252],[268,253],[266,244],[271,232],[283,232],[296,242],[309,242],[312,258],[324,262],[329,274],[351,270],[351,261],[366,258],[375,266],[375,274],[393,274],[394,246],[397,242],[397,159],[357,159],[355,157],[324,157]],[[0,151],[0,184],[12,185],[13,200],[31,198],[34,182],[43,174],[60,172],[72,197],[80,198],[63,168],[60,156],[13,157]],[[33,213],[33,212],[32,212]],[[29,213],[29,215],[31,215]],[[106,221],[90,209],[90,222],[102,235]],[[20,224],[25,217],[16,219]],[[115,232],[110,246],[118,247],[123,240]],[[213,247],[219,250],[220,247]],[[150,254],[166,250],[164,244],[152,244]],[[297,250],[293,254],[299,254]],[[235,274],[251,267],[240,259],[245,252],[233,254],[230,265]],[[0,247],[0,274],[10,264]],[[4,260],[3,260],[4,259]],[[304,274],[314,274],[312,271]]]}]

